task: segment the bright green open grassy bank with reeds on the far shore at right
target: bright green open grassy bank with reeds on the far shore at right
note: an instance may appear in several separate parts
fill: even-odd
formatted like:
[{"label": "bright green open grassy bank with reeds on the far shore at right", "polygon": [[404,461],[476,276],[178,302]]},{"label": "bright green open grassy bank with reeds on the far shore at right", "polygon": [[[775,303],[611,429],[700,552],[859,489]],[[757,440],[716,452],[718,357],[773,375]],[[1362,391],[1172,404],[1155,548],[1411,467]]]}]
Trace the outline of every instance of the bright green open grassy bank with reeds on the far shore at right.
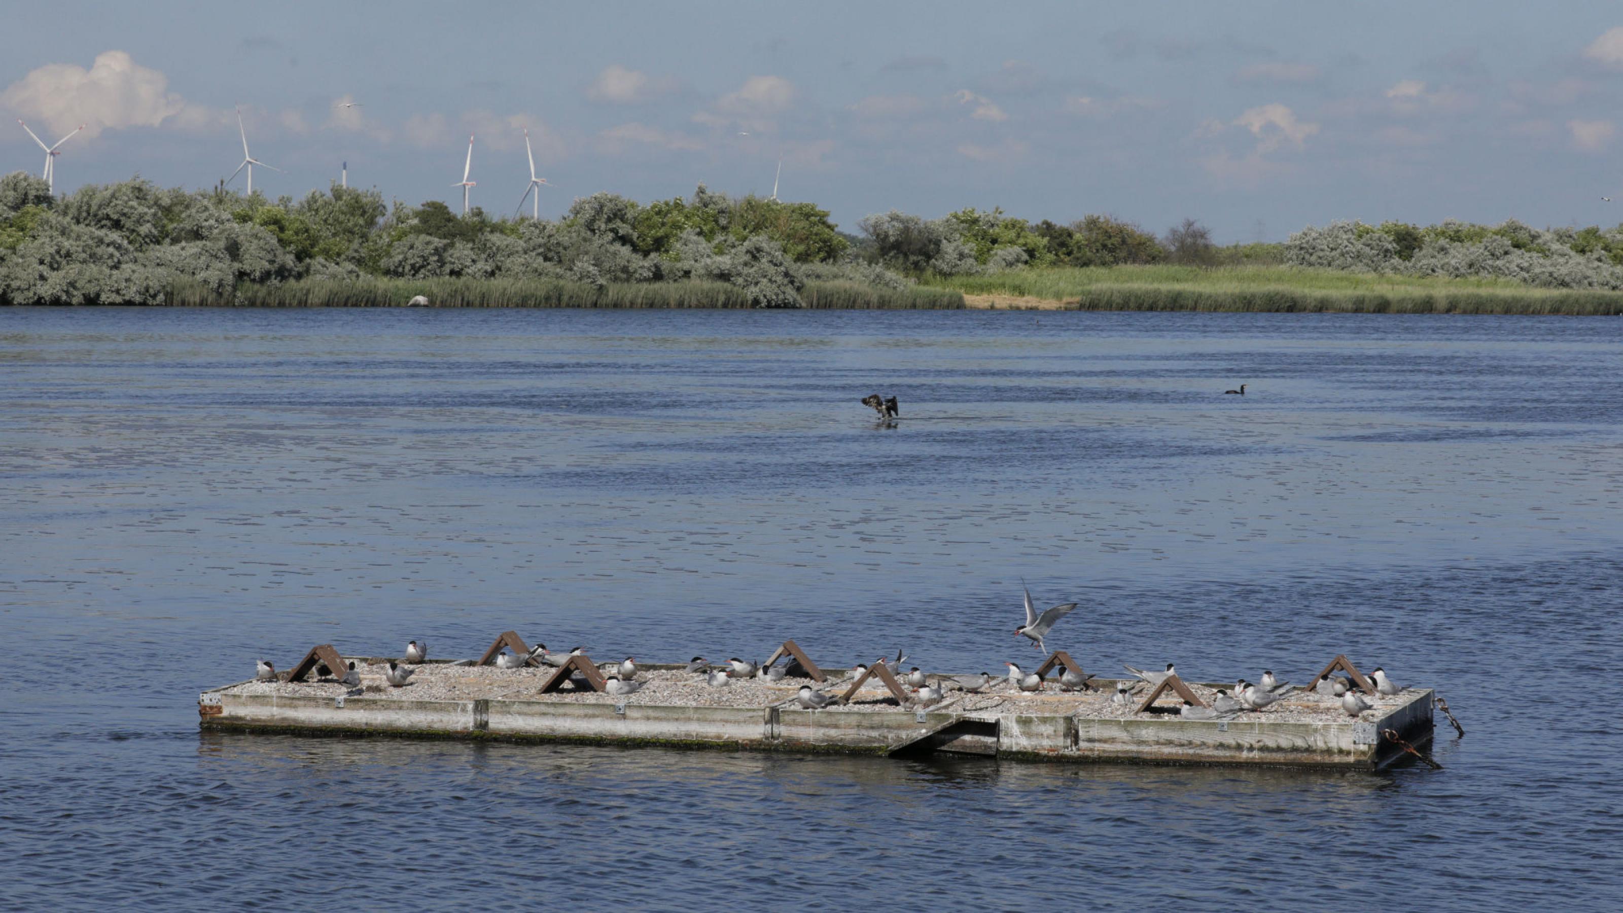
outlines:
[{"label": "bright green open grassy bank with reeds on the far shore at right", "polygon": [[1623,314],[1623,292],[1539,289],[1295,266],[1099,266],[932,276],[966,296],[1063,302],[1073,310],[1279,310],[1347,314]]}]

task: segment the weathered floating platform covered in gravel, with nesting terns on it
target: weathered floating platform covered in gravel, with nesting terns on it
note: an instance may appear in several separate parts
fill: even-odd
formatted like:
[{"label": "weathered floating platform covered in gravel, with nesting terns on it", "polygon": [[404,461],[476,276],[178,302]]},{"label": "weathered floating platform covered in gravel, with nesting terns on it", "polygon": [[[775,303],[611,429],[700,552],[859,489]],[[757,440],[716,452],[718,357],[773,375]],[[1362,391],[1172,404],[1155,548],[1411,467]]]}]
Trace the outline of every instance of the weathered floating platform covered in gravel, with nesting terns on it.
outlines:
[{"label": "weathered floating platform covered in gravel, with nesting terns on it", "polygon": [[[565,741],[748,751],[911,754],[948,752],[1052,762],[1147,762],[1336,767],[1373,770],[1404,757],[1386,733],[1423,744],[1431,738],[1430,689],[1368,697],[1375,708],[1349,718],[1339,699],[1294,689],[1261,712],[1225,720],[1177,713],[1167,692],[1138,712],[1112,703],[1113,679],[1099,690],[1016,690],[1006,679],[985,692],[949,690],[930,707],[902,703],[868,677],[847,703],[805,710],[802,684],[844,694],[847,669],[821,669],[826,682],[738,679],[711,687],[683,666],[641,666],[643,687],[610,695],[581,682],[540,694],[552,668],[497,669],[448,661],[412,666],[406,687],[383,679],[388,660],[354,661],[360,686],[338,681],[245,681],[198,697],[201,728],[295,734]],[[930,676],[946,681],[951,676]],[[1185,682],[1209,702],[1229,684]]]}]

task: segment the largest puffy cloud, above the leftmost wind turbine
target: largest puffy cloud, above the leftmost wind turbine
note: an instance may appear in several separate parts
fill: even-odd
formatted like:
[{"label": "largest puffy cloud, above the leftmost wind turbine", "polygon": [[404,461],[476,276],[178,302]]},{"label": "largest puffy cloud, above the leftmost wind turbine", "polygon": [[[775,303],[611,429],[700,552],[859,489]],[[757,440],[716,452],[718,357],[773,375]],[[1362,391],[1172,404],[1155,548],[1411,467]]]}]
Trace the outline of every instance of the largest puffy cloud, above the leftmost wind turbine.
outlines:
[{"label": "largest puffy cloud, above the leftmost wind turbine", "polygon": [[47,63],[6,86],[0,102],[44,123],[50,133],[84,125],[84,136],[125,127],[157,127],[177,117],[203,127],[217,115],[169,91],[169,76],[138,65],[123,50],[105,50],[86,70],[76,63]]}]

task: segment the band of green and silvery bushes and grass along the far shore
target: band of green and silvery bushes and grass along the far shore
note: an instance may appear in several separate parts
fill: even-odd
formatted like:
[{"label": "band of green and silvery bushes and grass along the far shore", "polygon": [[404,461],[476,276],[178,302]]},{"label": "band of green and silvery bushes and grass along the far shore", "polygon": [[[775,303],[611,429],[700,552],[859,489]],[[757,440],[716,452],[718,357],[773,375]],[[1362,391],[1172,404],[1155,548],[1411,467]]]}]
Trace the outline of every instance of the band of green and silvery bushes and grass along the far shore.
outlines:
[{"label": "band of green and silvery bushes and grass along the far shore", "polygon": [[1230,247],[1195,219],[1156,236],[997,208],[859,227],[704,185],[651,203],[594,193],[552,221],[341,187],[269,200],[131,179],[54,197],[15,172],[0,177],[0,304],[958,309],[971,294],[1096,310],[1623,312],[1623,226],[1331,223]]}]

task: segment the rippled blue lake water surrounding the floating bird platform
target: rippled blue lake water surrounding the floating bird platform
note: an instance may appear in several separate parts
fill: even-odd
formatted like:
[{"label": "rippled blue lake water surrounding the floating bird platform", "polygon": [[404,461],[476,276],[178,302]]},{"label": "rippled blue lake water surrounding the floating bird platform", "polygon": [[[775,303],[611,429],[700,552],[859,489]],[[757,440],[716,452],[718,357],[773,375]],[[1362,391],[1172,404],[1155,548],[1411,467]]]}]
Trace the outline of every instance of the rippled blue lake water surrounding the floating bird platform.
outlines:
[{"label": "rippled blue lake water surrounding the floating bird platform", "polygon": [[[0,907],[1623,905],[1623,320],[0,309]],[[1248,383],[1246,396],[1222,392]],[[875,427],[857,403],[898,395]],[[200,734],[316,642],[1435,686],[1441,772]]]}]

